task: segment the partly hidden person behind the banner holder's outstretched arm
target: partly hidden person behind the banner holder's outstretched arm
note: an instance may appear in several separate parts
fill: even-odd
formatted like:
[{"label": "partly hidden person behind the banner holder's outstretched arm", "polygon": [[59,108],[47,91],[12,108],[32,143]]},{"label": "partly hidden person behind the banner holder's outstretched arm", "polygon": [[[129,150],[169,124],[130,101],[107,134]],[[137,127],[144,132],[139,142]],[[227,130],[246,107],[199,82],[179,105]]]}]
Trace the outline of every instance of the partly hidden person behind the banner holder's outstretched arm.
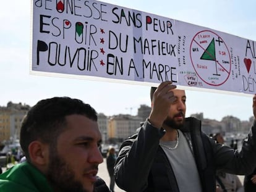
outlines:
[{"label": "partly hidden person behind the banner holder's outstretched arm", "polygon": [[[216,143],[224,144],[225,142],[221,133],[216,133],[215,135],[213,135],[213,138]],[[216,172],[216,186],[216,192],[244,191],[244,186],[242,186],[242,183],[237,175],[226,173],[222,170],[217,170]]]}]

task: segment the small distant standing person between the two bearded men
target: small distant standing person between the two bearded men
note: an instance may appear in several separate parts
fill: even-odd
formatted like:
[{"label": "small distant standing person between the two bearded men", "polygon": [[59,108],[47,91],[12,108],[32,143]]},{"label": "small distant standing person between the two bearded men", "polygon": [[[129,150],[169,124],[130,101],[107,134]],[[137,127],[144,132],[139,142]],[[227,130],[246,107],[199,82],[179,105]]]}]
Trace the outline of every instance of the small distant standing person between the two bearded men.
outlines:
[{"label": "small distant standing person between the two bearded men", "polygon": [[106,164],[110,177],[109,189],[114,192],[114,163],[116,162],[116,150],[113,147],[108,149]]}]

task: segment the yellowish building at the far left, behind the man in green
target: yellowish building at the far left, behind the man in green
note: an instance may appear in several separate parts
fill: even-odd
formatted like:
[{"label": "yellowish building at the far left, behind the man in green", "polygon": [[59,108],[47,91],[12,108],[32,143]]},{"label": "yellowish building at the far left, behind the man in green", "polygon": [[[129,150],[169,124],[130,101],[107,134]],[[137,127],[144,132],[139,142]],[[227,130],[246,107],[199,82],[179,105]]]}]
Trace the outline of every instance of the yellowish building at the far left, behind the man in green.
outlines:
[{"label": "yellowish building at the far left, behind the man in green", "polygon": [[30,106],[8,102],[7,107],[0,107],[0,141],[19,139],[22,119]]}]

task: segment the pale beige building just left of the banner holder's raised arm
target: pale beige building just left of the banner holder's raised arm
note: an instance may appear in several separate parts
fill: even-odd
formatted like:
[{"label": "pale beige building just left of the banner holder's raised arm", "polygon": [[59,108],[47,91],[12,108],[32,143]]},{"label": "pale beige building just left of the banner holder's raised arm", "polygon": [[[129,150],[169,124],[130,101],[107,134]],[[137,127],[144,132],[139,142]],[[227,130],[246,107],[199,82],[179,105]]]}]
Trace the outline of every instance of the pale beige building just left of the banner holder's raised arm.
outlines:
[{"label": "pale beige building just left of the banner holder's raised arm", "polygon": [[135,133],[140,123],[143,121],[141,117],[132,115],[114,115],[110,117],[108,122],[109,138],[117,138],[124,140]]}]

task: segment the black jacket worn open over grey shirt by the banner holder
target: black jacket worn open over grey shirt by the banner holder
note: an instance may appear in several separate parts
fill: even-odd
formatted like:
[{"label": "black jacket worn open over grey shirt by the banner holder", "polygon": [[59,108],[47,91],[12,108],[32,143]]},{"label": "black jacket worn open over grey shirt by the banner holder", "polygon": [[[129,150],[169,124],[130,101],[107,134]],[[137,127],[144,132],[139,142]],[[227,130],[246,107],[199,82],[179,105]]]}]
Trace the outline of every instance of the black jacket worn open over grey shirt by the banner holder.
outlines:
[{"label": "black jacket worn open over grey shirt by the banner holder", "polygon": [[[228,146],[217,144],[202,133],[201,122],[195,118],[187,118],[181,131],[194,154],[202,190],[205,192],[216,191],[216,169],[244,175],[256,165],[256,135],[253,136],[254,142],[252,136],[249,136],[242,151],[237,152]],[[130,192],[179,191],[171,164],[159,146],[164,132],[146,121],[135,135],[122,143],[114,167],[119,188]]]}]

